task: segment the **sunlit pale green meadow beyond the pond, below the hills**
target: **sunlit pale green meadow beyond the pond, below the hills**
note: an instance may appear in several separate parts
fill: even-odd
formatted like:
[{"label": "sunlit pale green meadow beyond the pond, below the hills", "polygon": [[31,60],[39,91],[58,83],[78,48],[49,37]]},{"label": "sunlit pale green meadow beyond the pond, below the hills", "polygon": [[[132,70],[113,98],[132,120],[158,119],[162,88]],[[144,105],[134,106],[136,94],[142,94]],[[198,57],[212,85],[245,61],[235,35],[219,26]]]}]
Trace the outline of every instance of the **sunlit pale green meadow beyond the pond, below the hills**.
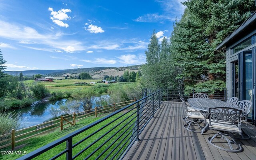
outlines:
[{"label": "sunlit pale green meadow beyond the pond, below the hills", "polygon": [[[66,91],[74,91],[74,90],[79,90],[79,89],[83,89],[83,88],[88,88],[90,86],[94,86],[97,85],[97,82],[101,81],[99,80],[54,80],[54,82],[40,82],[43,83],[46,88],[48,88],[50,90],[50,92],[57,92],[57,91],[62,91],[62,92],[66,92]],[[26,84],[28,85],[32,85],[33,83],[35,83],[34,80],[26,80],[24,81]],[[82,83],[82,82],[86,82],[86,83],[90,83],[90,82],[95,82],[96,84],[90,84],[90,86],[86,86],[83,84],[75,84],[75,83]]]}]

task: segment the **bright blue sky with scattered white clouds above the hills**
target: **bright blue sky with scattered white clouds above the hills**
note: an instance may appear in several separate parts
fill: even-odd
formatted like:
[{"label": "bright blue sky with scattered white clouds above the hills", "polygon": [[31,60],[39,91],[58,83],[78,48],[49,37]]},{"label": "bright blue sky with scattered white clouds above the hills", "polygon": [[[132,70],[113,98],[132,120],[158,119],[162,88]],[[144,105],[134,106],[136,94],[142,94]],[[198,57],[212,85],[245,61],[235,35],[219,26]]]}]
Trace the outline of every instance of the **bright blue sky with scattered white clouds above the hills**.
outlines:
[{"label": "bright blue sky with scattered white clouds above the hills", "polygon": [[144,64],[150,36],[172,32],[183,0],[0,0],[7,71]]}]

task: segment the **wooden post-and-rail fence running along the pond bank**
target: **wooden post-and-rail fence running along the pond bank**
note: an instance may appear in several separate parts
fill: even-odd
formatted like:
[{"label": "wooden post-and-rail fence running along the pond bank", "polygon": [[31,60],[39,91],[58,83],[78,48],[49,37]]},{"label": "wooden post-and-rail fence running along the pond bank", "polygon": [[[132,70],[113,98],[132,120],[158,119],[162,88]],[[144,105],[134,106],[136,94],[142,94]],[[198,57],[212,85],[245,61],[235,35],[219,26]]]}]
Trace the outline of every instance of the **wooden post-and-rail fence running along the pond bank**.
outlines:
[{"label": "wooden post-and-rail fence running along the pond bank", "polygon": [[[129,100],[125,102],[119,102],[110,104],[102,107],[95,107],[90,110],[86,110],[79,113],[68,114],[66,116],[61,116],[56,120],[51,120],[48,122],[44,122],[41,124],[37,124],[35,126],[23,128],[20,130],[12,129],[11,133],[0,135],[0,149],[5,148],[7,146],[12,146],[12,150],[15,148],[15,144],[21,142],[23,140],[29,139],[34,136],[38,136],[39,134],[44,134],[51,130],[55,130],[56,128],[60,128],[60,130],[64,130],[70,126],[76,125],[76,122],[82,120],[84,118],[95,116],[97,117],[99,114],[115,112],[128,104],[135,102],[134,100]],[[67,125],[67,126],[66,126]]]}]

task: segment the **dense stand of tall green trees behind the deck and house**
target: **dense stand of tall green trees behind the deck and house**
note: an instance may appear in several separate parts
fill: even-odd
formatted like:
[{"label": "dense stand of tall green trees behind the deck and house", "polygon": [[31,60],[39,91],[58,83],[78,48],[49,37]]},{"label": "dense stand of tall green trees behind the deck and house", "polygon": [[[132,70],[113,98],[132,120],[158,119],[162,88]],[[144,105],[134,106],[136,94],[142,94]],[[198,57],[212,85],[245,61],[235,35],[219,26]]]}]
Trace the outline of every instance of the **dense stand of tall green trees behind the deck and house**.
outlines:
[{"label": "dense stand of tall green trees behind the deck and house", "polygon": [[225,87],[225,48],[216,46],[255,12],[254,0],[188,0],[168,39],[148,44],[144,84],[157,87]]}]

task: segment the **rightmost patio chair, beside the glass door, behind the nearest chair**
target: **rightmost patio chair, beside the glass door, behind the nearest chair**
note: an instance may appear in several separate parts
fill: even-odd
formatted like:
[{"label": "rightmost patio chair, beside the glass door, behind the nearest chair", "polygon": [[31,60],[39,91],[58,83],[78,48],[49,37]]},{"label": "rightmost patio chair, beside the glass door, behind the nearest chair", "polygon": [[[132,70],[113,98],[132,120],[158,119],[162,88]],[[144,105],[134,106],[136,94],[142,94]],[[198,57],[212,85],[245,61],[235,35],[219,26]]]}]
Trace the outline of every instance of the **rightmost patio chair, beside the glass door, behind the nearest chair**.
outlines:
[{"label": "rightmost patio chair, beside the glass door, behind the nearest chair", "polygon": [[[247,116],[250,113],[252,102],[250,100],[241,100],[237,102],[236,106],[238,107],[238,109],[242,110],[242,118],[244,118],[247,121]],[[251,138],[243,130],[241,135],[235,135],[233,137],[238,140],[249,140]]]}]

